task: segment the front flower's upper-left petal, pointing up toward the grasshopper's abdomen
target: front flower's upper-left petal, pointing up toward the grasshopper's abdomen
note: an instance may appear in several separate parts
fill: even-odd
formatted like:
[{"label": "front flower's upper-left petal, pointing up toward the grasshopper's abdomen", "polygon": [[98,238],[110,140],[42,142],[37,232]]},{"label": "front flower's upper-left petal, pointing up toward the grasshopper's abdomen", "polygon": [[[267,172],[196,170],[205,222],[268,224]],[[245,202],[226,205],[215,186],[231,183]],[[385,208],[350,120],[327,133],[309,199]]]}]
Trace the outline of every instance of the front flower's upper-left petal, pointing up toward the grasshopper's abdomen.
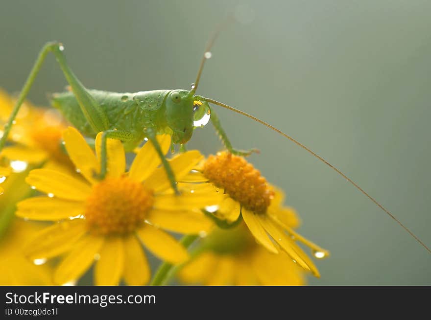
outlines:
[{"label": "front flower's upper-left petal, pointing up toward the grasshopper's abdomen", "polygon": [[63,132],[66,150],[76,169],[90,183],[96,183],[95,175],[100,172],[100,163],[84,137],[75,128],[69,127]]}]

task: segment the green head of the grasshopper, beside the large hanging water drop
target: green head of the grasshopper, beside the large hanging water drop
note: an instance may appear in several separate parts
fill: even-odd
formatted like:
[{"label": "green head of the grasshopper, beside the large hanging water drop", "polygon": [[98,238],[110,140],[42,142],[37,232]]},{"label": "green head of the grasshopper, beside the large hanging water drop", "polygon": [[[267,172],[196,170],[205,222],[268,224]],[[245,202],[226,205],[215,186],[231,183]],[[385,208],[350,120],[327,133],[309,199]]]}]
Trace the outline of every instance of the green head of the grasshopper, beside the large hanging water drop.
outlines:
[{"label": "green head of the grasshopper, beside the large hanging water drop", "polygon": [[166,99],[166,120],[173,143],[186,143],[193,134],[193,96],[187,90],[173,90]]}]

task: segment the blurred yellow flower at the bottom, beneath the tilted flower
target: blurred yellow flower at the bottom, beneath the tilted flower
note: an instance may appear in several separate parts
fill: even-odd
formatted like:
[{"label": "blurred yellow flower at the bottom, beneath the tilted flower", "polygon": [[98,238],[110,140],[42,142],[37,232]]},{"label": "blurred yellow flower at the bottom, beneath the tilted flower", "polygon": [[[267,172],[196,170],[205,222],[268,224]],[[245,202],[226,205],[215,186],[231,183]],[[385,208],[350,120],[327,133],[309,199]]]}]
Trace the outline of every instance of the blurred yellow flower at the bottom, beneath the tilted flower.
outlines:
[{"label": "blurred yellow flower at the bottom, beneath the tilted flower", "polygon": [[186,284],[304,285],[305,272],[286,253],[274,254],[257,244],[241,223],[216,229],[196,249],[202,250],[179,272]]}]

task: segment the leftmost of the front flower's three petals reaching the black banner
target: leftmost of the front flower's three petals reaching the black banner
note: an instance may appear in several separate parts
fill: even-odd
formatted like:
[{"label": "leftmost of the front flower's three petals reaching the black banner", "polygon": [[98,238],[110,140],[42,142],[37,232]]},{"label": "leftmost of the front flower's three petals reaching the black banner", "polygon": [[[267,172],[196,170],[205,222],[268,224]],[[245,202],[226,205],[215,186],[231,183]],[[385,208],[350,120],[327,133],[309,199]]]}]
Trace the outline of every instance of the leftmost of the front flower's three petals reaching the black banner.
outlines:
[{"label": "leftmost of the front flower's three petals reaching the black banner", "polygon": [[93,264],[95,255],[103,245],[103,237],[87,234],[80,239],[73,250],[60,263],[54,273],[54,282],[64,284],[77,280]]}]

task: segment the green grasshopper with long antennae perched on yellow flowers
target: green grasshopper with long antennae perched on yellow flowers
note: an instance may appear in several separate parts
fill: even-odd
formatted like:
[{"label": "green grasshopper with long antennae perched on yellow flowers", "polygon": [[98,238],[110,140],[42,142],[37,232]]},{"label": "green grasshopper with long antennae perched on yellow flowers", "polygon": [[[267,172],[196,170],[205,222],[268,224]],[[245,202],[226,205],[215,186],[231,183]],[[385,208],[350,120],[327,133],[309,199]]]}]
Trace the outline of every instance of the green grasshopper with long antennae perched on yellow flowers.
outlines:
[{"label": "green grasshopper with long antennae perched on yellow flowers", "polygon": [[232,147],[232,144],[226,133],[220,125],[220,121],[215,111],[209,103],[221,106],[225,109],[234,111],[238,114],[247,116],[269,129],[286,137],[296,145],[308,151],[312,156],[319,159],[336,173],[341,175],[349,183],[353,184],[360,192],[368,197],[372,202],[379,206],[387,215],[395,220],[403,229],[405,229],[416,241],[418,241],[427,251],[431,250],[407,227],[405,227],[392,213],[384,208],[379,202],[365,192],[357,183],[348,178],[344,173],[335,168],[328,161],[311,151],[294,138],[283,133],[279,129],[258,119],[255,116],[247,114],[241,110],[230,107],[227,104],[218,102],[214,99],[196,95],[199,79],[205,64],[205,61],[211,58],[211,47],[216,39],[217,34],[213,36],[208,43],[204,56],[201,60],[196,81],[192,84],[191,90],[155,90],[140,91],[136,93],[115,93],[106,91],[87,90],[82,83],[73,74],[72,70],[66,63],[64,55],[64,46],[58,42],[47,43],[39,53],[39,56],[24,84],[14,109],[4,127],[3,137],[0,139],[0,151],[3,148],[7,136],[10,132],[13,121],[18,114],[31,85],[33,84],[37,73],[49,52],[52,52],[62,69],[71,91],[65,93],[56,93],[52,96],[52,104],[58,108],[61,113],[84,135],[96,137],[96,134],[103,132],[101,139],[101,165],[100,179],[106,174],[106,141],[107,138],[120,139],[124,143],[126,151],[132,151],[139,145],[144,138],[150,140],[162,160],[166,169],[169,181],[173,190],[178,194],[176,180],[172,169],[166,160],[162,149],[157,142],[156,135],[169,134],[174,144],[181,144],[183,147],[192,137],[194,130],[194,121],[199,120],[204,115],[210,115],[212,124],[217,134],[220,136],[226,149],[236,155],[247,156],[256,149],[238,150]]}]

